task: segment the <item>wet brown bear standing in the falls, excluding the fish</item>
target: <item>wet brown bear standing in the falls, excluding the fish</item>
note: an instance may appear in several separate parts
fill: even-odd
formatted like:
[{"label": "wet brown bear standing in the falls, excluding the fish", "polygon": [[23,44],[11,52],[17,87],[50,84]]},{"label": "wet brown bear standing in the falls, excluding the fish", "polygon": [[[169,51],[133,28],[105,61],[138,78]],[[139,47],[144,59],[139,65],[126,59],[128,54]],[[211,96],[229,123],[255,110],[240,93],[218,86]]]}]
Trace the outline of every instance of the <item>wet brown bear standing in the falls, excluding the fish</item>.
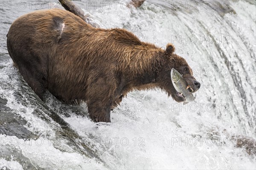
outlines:
[{"label": "wet brown bear standing in the falls, excluding the fish", "polygon": [[86,102],[93,121],[110,122],[116,107],[133,89],[164,90],[185,99],[172,85],[175,68],[193,92],[200,83],[186,60],[140,41],[125,29],[99,29],[60,9],[25,14],[7,35],[9,55],[28,85],[43,99],[46,89],[68,103]]}]

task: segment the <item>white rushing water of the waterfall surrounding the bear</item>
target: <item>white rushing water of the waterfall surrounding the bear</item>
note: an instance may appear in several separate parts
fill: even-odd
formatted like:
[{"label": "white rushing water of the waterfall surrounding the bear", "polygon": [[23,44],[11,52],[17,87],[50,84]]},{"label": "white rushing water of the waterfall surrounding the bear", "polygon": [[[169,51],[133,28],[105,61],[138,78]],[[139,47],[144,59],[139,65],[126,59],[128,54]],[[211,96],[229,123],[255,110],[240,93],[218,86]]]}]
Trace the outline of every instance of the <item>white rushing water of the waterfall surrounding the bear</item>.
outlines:
[{"label": "white rushing water of the waterfall surrounding the bear", "polygon": [[[23,127],[40,138],[1,134],[1,147],[38,169],[255,169],[255,156],[236,147],[236,136],[256,139],[256,4],[225,1],[222,6],[233,9],[225,13],[218,3],[209,6],[212,1],[187,1],[187,9],[185,1],[177,8],[178,1],[148,0],[141,9],[101,2],[97,9],[78,4],[102,28],[125,28],[163,48],[175,45],[201,83],[195,102],[183,106],[160,90],[134,91],[111,112],[111,123],[95,124],[86,104],[70,106],[47,94],[49,109],[78,134],[75,147],[9,58],[1,63],[0,97],[18,106],[12,109],[26,120]],[[96,158],[81,152],[80,140]],[[10,157],[0,158],[0,168],[26,169],[21,157]]]}]

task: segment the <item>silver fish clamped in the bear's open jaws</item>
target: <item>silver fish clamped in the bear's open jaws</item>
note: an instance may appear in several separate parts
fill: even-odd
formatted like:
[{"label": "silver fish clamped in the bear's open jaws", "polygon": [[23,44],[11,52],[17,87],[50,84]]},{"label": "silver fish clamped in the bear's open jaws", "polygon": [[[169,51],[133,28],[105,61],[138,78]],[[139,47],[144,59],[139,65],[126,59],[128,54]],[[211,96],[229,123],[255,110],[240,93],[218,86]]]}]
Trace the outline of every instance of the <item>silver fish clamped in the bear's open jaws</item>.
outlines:
[{"label": "silver fish clamped in the bear's open jaws", "polygon": [[180,95],[182,95],[186,99],[183,105],[191,101],[195,101],[194,95],[188,90],[189,86],[187,86],[186,81],[184,80],[182,75],[174,68],[172,68],[171,71],[171,78],[174,88],[177,90],[178,93],[180,93]]}]

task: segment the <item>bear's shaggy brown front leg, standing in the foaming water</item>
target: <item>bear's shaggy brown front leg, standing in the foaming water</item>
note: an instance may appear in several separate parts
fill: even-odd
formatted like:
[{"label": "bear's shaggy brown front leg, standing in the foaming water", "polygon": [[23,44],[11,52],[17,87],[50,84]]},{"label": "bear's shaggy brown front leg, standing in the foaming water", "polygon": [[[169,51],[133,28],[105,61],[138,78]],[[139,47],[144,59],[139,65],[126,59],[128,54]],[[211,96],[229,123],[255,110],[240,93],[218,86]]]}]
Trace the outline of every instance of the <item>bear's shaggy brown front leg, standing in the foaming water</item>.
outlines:
[{"label": "bear's shaggy brown front leg, standing in the foaming water", "polygon": [[[87,78],[87,107],[90,118],[95,122],[111,122],[110,111],[116,91],[115,72],[93,66]],[[90,88],[89,88],[90,87]]]}]

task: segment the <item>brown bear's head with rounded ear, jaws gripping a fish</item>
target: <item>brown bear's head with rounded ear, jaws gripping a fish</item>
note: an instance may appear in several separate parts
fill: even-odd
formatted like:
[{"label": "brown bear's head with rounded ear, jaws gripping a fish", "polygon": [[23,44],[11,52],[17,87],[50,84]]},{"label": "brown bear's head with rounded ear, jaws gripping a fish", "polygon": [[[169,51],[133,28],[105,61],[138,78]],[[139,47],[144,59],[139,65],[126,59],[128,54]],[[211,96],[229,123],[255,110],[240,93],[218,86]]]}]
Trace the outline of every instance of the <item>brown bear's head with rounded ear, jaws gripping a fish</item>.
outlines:
[{"label": "brown bear's head with rounded ear, jaws gripping a fish", "polygon": [[175,47],[169,43],[166,46],[165,55],[163,56],[163,66],[160,69],[157,81],[160,88],[165,90],[169,96],[177,102],[185,101],[182,95],[180,95],[172,84],[171,70],[176,69],[185,79],[187,86],[189,86],[190,92],[196,92],[200,88],[200,83],[193,77],[192,69],[186,62],[186,60],[175,53]]}]

